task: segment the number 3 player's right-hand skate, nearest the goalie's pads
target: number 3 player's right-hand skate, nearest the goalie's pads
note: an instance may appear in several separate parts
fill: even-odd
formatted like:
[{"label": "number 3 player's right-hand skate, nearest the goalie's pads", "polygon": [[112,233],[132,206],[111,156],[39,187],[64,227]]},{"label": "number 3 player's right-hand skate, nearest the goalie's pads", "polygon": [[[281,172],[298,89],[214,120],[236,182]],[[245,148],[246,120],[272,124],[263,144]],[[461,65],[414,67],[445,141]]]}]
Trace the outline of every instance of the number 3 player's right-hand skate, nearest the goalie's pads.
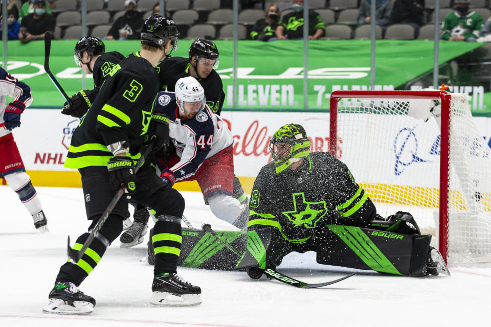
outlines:
[{"label": "number 3 player's right-hand skate, nearest the goalie's pads", "polygon": [[201,289],[177,274],[155,276],[152,291],[150,303],[155,306],[197,306],[201,303]]}]

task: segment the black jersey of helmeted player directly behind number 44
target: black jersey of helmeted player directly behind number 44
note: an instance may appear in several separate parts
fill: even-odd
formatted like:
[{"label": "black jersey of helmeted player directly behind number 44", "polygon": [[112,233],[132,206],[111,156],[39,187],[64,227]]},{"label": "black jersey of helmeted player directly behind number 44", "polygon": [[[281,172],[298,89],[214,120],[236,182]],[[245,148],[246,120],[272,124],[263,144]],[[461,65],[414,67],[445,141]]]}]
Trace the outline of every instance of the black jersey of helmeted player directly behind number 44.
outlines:
[{"label": "black jersey of helmeted player directly behind number 44", "polygon": [[[174,92],[175,82],[180,78],[190,76],[189,66],[191,66],[189,59],[183,57],[167,58],[159,63],[155,69],[159,73],[160,90],[165,91],[167,89],[169,92]],[[213,113],[219,115],[225,101],[224,85],[220,76],[215,72],[215,69],[212,69],[207,78],[199,78],[198,82],[205,90],[206,104]]]}]

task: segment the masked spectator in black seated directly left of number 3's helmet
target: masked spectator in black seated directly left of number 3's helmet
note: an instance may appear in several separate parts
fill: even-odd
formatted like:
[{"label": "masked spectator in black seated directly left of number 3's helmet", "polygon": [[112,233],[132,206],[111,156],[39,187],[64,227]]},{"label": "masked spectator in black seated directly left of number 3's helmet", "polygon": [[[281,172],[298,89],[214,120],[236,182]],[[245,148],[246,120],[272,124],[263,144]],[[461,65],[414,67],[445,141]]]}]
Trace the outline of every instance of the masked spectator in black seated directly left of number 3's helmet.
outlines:
[{"label": "masked spectator in black seated directly left of number 3's helmet", "polygon": [[108,40],[137,40],[143,26],[142,14],[137,10],[136,0],[124,2],[124,15],[116,19],[106,38]]}]

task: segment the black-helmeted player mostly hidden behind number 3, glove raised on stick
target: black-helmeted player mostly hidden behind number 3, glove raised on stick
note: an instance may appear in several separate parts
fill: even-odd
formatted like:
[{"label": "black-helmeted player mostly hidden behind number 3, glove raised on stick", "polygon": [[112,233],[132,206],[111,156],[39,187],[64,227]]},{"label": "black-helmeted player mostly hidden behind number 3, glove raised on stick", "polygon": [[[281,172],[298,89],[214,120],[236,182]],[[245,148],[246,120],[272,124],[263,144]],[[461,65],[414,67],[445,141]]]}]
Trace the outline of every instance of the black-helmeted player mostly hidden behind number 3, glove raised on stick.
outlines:
[{"label": "black-helmeted player mostly hidden behind number 3, glove raised on stick", "polygon": [[73,56],[75,64],[87,74],[92,74],[94,89],[81,90],[70,97],[72,105],[66,104],[61,113],[82,118],[94,102],[104,79],[113,67],[124,59],[117,51],[105,52],[105,45],[96,36],[84,36],[77,41]]}]

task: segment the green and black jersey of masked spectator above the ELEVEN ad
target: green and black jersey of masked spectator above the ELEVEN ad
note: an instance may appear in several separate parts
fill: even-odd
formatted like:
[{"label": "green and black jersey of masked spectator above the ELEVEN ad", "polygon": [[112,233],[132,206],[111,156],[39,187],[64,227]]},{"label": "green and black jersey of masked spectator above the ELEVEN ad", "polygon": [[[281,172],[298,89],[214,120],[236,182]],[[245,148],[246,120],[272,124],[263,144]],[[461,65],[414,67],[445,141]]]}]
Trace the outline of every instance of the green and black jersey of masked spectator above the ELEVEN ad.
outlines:
[{"label": "green and black jersey of masked spectator above the ELEVEN ad", "polygon": [[[289,39],[303,37],[303,12],[291,12],[281,17],[278,25],[285,28],[283,35]],[[308,12],[308,35],[314,35],[318,29],[325,29],[321,16],[312,10]]]}]

